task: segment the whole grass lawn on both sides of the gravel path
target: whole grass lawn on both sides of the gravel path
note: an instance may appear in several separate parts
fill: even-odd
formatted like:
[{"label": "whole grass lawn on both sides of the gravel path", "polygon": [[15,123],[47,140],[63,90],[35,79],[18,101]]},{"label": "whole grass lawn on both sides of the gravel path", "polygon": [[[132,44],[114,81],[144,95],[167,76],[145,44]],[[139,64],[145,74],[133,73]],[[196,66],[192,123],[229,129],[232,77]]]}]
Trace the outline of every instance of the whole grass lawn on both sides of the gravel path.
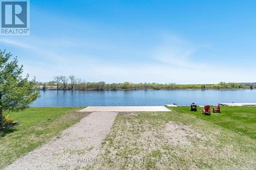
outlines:
[{"label": "whole grass lawn on both sides of the gravel path", "polygon": [[[21,125],[0,132],[0,168],[78,122],[80,108],[30,108],[10,117]],[[169,108],[120,112],[101,153],[85,169],[255,169],[256,107]],[[97,161],[99,160],[99,161]]]}]

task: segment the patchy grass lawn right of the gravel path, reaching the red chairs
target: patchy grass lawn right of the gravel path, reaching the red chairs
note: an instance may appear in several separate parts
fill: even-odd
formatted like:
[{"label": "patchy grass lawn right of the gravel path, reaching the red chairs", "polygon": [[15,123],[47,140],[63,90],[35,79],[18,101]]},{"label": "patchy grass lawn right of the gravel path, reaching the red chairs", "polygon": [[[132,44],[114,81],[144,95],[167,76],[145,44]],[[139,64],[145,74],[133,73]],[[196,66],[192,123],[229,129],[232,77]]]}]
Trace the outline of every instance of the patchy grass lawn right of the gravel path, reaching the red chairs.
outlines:
[{"label": "patchy grass lawn right of the gravel path, reaching the red chairs", "polygon": [[87,169],[255,169],[255,107],[119,113]]}]

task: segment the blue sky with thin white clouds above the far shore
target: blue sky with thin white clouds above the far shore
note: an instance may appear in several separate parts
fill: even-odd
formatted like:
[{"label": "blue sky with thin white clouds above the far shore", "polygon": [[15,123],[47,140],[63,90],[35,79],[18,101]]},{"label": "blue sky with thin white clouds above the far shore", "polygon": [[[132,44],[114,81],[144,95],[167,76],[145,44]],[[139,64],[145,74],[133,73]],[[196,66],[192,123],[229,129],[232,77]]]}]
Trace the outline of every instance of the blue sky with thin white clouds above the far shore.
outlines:
[{"label": "blue sky with thin white clouds above the far shore", "polygon": [[256,82],[256,1],[30,1],[1,49],[42,82]]}]

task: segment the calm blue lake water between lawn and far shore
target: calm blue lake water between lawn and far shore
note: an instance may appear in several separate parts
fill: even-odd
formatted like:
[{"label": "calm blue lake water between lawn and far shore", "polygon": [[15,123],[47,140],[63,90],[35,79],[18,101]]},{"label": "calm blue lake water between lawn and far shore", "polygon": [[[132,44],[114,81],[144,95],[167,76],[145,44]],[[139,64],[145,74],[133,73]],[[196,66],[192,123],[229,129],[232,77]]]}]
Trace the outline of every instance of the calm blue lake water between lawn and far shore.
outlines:
[{"label": "calm blue lake water between lawn and far shore", "polygon": [[256,103],[256,90],[48,90],[31,106],[182,106]]}]

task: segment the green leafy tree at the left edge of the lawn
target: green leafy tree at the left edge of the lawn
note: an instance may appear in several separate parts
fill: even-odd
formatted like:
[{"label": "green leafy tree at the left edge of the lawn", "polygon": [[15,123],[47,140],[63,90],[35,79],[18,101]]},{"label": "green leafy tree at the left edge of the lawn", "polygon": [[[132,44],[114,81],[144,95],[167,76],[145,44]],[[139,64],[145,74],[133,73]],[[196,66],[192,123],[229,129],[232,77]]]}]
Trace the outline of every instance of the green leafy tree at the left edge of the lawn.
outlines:
[{"label": "green leafy tree at the left edge of the lawn", "polygon": [[23,66],[18,66],[17,58],[9,61],[12,55],[0,50],[0,129],[3,128],[3,112],[19,111],[39,97],[32,82],[22,77]]}]

